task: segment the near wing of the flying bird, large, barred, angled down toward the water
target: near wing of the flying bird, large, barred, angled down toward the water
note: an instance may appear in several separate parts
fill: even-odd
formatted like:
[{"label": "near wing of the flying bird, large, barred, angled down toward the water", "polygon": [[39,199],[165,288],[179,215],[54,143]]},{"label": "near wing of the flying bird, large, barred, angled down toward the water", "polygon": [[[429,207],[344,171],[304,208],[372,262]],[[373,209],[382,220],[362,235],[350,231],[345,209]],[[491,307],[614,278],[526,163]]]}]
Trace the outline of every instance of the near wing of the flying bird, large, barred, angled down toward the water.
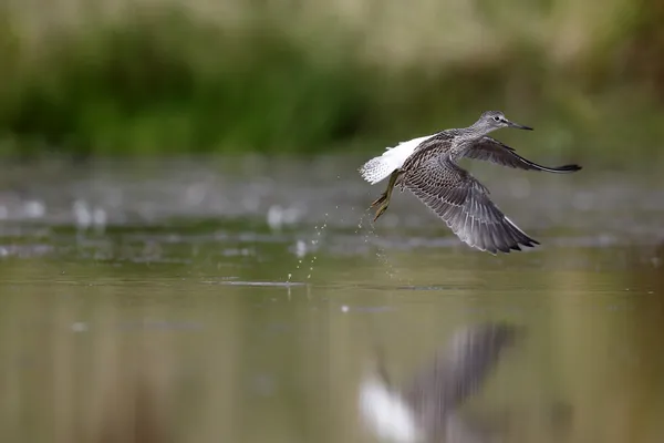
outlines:
[{"label": "near wing of the flying bird, large, barred, angled down toward the water", "polygon": [[491,254],[521,250],[519,244],[539,245],[498,209],[484,185],[435,150],[422,150],[407,163],[403,186],[461,241]]}]

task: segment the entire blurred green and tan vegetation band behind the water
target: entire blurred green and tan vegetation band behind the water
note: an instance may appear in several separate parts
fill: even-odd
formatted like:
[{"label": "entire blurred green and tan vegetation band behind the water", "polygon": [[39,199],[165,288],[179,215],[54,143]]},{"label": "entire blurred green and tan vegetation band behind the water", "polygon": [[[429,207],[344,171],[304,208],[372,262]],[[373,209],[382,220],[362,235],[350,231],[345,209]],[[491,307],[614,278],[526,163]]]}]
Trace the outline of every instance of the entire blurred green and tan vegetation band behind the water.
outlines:
[{"label": "entire blurred green and tan vegetation band behind the water", "polygon": [[[538,150],[664,137],[655,0],[2,0],[0,153],[355,148],[487,109]],[[510,135],[501,137],[509,138]]]}]

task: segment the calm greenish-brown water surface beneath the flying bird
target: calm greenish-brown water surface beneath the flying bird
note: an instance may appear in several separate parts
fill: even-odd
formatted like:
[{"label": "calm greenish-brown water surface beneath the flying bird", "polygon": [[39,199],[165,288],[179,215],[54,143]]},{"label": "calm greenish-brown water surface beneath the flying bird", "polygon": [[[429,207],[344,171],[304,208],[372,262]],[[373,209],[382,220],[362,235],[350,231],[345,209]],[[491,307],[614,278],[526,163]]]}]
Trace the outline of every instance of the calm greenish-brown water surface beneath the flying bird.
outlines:
[{"label": "calm greenish-brown water surface beneath the flying bird", "polygon": [[501,320],[528,340],[468,414],[509,415],[510,442],[662,441],[658,173],[474,167],[542,243],[492,257],[406,194],[374,229],[361,162],[3,165],[0,440],[370,442],[376,346],[406,380]]}]

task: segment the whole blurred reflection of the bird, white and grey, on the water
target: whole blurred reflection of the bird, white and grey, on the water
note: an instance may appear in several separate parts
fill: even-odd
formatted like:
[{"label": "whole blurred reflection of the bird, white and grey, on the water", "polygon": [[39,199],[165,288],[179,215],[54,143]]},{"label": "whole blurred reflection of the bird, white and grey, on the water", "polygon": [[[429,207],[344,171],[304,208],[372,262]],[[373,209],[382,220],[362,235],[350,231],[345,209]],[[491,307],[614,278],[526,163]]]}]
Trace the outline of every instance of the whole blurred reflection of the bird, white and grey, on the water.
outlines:
[{"label": "whole blurred reflection of the bird, white and grey, on the water", "polygon": [[363,424],[381,441],[394,443],[486,441],[459,409],[480,390],[504,352],[526,336],[525,327],[502,321],[459,328],[401,387],[390,380],[378,353],[357,390]]}]

